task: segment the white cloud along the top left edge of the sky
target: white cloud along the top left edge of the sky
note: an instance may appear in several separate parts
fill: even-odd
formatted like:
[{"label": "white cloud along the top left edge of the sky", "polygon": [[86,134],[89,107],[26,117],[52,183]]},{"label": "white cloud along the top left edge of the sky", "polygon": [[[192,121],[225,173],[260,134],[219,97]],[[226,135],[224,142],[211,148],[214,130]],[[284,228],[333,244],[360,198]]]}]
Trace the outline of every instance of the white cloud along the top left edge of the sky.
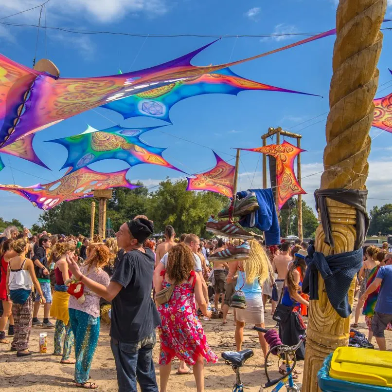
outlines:
[{"label": "white cloud along the top left edge of the sky", "polygon": [[[1,16],[15,14],[39,5],[37,0],[2,0]],[[109,22],[123,19],[129,14],[142,13],[149,18],[163,15],[168,11],[166,0],[62,0],[49,2],[46,5],[48,20],[65,16],[95,19],[99,22]],[[60,15],[60,13],[62,15]],[[18,15],[17,18],[37,20],[39,8]],[[15,21],[15,18],[9,19]]]}]

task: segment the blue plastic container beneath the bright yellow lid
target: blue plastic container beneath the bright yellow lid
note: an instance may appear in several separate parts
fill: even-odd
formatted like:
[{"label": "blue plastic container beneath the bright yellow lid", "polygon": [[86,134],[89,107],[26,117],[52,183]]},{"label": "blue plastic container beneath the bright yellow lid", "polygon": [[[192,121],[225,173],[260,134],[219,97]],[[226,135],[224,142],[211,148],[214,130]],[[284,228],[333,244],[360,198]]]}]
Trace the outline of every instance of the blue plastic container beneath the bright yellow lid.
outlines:
[{"label": "blue plastic container beneath the bright yellow lid", "polygon": [[392,392],[392,388],[378,385],[358,384],[356,382],[338,380],[329,376],[332,354],[328,355],[322,368],[317,374],[319,387],[322,392]]}]

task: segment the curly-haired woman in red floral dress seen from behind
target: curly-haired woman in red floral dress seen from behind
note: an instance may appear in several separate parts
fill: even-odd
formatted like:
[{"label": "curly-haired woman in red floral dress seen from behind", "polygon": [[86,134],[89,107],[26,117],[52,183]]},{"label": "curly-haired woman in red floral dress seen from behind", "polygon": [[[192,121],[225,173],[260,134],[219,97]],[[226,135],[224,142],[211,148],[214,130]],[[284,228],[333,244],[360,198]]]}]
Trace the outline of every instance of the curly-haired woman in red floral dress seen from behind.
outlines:
[{"label": "curly-haired woman in red floral dress seen from behind", "polygon": [[178,281],[168,302],[159,305],[160,332],[160,392],[166,391],[172,359],[185,361],[193,366],[197,392],[204,391],[204,359],[217,362],[218,357],[210,349],[203,327],[197,318],[196,302],[203,315],[211,317],[203,296],[201,280],[194,269],[195,258],[183,243],[174,246],[168,255],[166,270],[156,281],[158,293]]}]

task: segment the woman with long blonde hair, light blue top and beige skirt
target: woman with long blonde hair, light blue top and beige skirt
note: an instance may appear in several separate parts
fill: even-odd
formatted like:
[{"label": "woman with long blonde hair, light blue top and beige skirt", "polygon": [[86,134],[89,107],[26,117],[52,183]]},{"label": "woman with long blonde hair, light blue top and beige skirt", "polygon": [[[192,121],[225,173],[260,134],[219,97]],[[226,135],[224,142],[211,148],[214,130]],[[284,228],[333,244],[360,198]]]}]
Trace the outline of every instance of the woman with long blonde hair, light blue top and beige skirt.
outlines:
[{"label": "woman with long blonde hair, light blue top and beige skirt", "polygon": [[[261,288],[269,279],[271,265],[266,252],[256,240],[249,241],[248,246],[250,247],[249,258],[229,262],[229,275],[227,276],[227,283],[231,283],[233,277],[238,275],[235,290],[244,292],[247,305],[245,309],[236,308],[235,344],[237,351],[242,348],[245,323],[265,328]],[[268,344],[261,332],[259,332],[259,341],[264,355],[267,355]],[[267,366],[271,365],[273,362],[268,360]]]}]

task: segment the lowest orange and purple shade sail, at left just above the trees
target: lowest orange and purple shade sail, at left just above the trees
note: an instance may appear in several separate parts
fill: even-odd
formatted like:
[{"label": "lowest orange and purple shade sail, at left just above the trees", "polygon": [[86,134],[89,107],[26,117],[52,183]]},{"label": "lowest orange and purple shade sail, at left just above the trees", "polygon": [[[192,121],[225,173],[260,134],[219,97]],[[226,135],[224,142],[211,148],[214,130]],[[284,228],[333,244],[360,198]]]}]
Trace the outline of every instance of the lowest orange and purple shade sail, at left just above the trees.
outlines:
[{"label": "lowest orange and purple shade sail, at left just above the trees", "polygon": [[82,168],[49,184],[36,184],[31,187],[0,185],[0,190],[16,193],[31,201],[34,206],[49,210],[64,201],[91,197],[93,189],[139,187],[126,179],[127,171],[125,169],[113,173],[99,173],[89,168]]}]

